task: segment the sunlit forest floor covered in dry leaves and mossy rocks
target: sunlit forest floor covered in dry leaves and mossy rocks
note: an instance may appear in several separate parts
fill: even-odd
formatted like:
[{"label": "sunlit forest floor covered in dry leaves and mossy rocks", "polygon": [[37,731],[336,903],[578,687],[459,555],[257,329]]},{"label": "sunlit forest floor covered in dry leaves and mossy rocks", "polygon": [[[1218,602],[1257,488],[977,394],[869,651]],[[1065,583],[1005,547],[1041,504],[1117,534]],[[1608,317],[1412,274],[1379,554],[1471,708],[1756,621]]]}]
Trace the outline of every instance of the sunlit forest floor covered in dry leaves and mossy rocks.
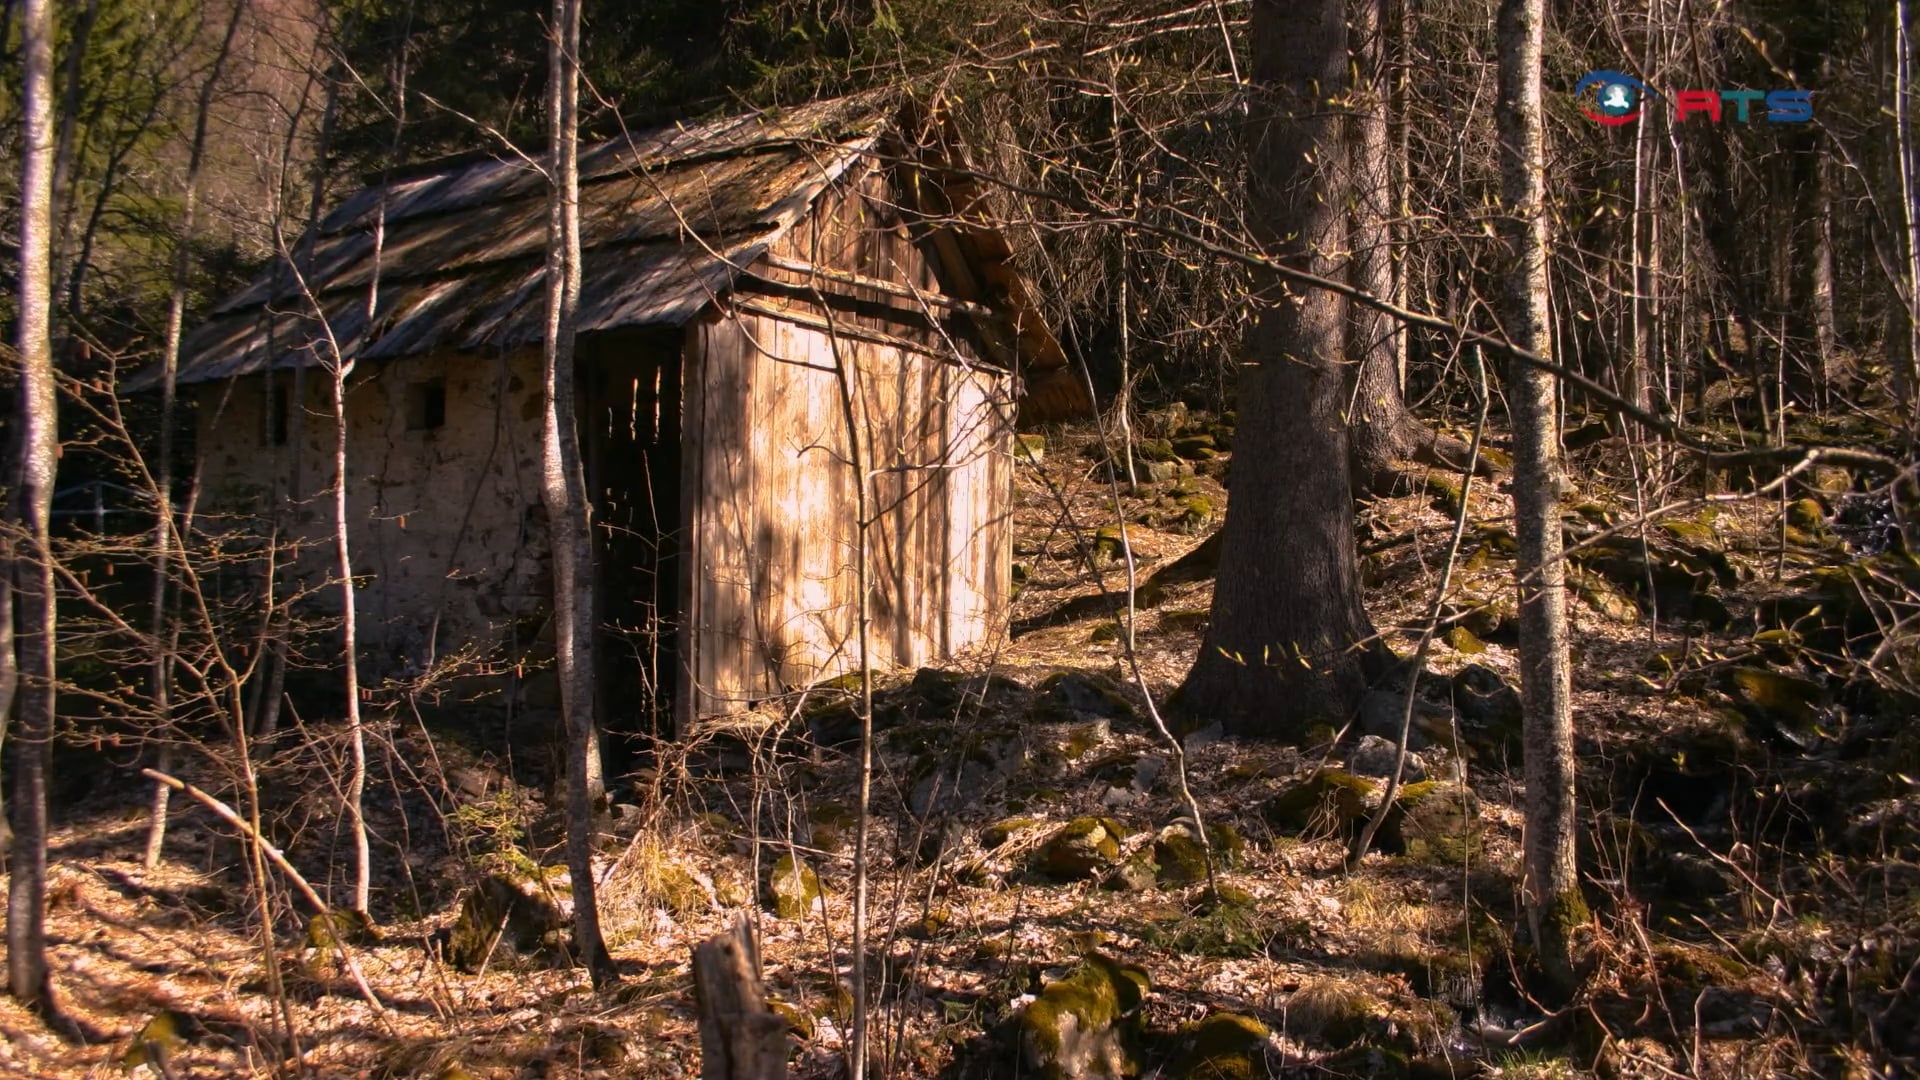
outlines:
[{"label": "sunlit forest floor covered in dry leaves and mossy rocks", "polygon": [[[1139,669],[1160,705],[1206,626],[1200,546],[1231,457],[1231,429],[1208,417],[1167,434],[1188,459],[1162,461],[1171,475],[1121,498]],[[1075,970],[1117,970],[1083,969],[1089,955],[1150,978],[1102,1053],[1169,1080],[1914,1074],[1920,730],[1899,680],[1912,644],[1885,628],[1912,617],[1920,575],[1903,553],[1876,553],[1885,523],[1845,494],[1849,477],[1814,477],[1824,490],[1786,500],[1688,503],[1640,527],[1626,452],[1576,455],[1567,525],[1584,544],[1574,715],[1594,919],[1588,984],[1549,1009],[1528,992],[1517,901],[1500,480],[1473,484],[1453,621],[1413,694],[1407,778],[1434,782],[1413,788],[1356,871],[1348,838],[1379,803],[1367,774],[1382,773],[1379,736],[1400,724],[1405,673],[1352,730],[1329,719],[1306,748],[1175,728],[1215,842],[1213,890],[1121,625],[1089,600],[1087,555],[1110,590],[1127,573],[1119,536],[1102,532],[1117,521],[1114,490],[1087,444],[1052,432],[1044,461],[1021,467],[1010,642],[950,671],[881,678],[874,1074],[1037,1074],[1023,1053],[1048,1036],[1018,1017]],[[1645,505],[1661,502],[1649,473],[1640,480]],[[1419,644],[1459,505],[1457,477],[1409,488],[1369,502],[1359,525],[1369,611],[1402,655]],[[1695,477],[1661,494],[1699,490]],[[278,994],[230,830],[177,801],[165,859],[144,871],[142,784],[132,771],[96,784],[60,807],[50,851],[54,984],[92,1038],[65,1042],[0,1001],[0,1074],[292,1074],[298,1049],[309,1076],[695,1076],[689,949],[751,911],[768,992],[793,1026],[793,1074],[837,1076],[854,726],[833,688],[795,715],[703,732],[622,778],[603,892],[622,980],[605,992],[543,959],[538,926],[524,949],[507,932],[459,970],[468,888],[561,859],[553,792],[515,784],[501,749],[457,724],[376,724],[378,938],[346,945],[348,934],[278,919]],[[340,742],[315,730],[263,763],[263,813],[340,896],[348,853],[328,811]],[[232,798],[215,769],[188,774]],[[818,890],[804,874],[766,886],[795,861]],[[271,892],[276,909],[298,909],[278,878]],[[495,926],[522,919],[492,911]],[[1246,1034],[1221,1040],[1229,1015]]]}]

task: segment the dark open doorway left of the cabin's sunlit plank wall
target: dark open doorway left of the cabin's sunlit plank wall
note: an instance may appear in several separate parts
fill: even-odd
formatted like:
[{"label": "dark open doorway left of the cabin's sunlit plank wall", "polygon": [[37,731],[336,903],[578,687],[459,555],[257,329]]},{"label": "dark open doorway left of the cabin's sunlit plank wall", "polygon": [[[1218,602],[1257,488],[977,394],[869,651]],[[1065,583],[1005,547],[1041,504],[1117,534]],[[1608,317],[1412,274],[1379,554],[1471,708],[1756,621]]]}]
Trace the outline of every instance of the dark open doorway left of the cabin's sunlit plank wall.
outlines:
[{"label": "dark open doorway left of the cabin's sunlit plank wall", "polygon": [[595,715],[609,776],[672,738],[680,646],[680,332],[580,338],[593,503]]}]

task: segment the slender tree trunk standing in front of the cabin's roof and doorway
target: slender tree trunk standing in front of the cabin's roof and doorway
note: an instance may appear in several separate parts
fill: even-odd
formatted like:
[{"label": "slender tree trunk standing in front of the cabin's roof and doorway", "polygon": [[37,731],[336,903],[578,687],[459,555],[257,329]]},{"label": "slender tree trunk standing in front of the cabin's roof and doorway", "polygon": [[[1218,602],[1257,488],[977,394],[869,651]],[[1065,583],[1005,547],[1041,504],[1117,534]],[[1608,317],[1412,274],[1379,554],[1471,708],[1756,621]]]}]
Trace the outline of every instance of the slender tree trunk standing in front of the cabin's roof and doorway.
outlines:
[{"label": "slender tree trunk standing in front of the cabin's roof and doorway", "polygon": [[616,978],[593,890],[593,811],[601,799],[593,730],[593,536],[580,429],[574,421],[574,311],[580,306],[580,0],[553,0],[547,54],[547,413],[541,496],[553,530],[553,621],[566,724],[566,867],[574,886],[574,944],[593,984]]}]

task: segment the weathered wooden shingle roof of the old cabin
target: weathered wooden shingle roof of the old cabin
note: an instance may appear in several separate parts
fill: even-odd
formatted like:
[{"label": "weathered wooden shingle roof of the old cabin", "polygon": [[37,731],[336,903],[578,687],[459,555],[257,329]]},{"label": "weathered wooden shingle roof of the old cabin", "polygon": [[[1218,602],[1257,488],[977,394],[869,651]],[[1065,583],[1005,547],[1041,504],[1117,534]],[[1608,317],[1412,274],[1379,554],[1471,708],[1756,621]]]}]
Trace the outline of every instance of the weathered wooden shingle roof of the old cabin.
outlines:
[{"label": "weathered wooden shingle roof of the old cabin", "polygon": [[[578,329],[685,323],[885,129],[874,98],[837,98],[582,148]],[[970,250],[979,234],[964,231]],[[374,361],[524,346],[545,332],[547,183],[536,161],[468,160],[363,188],[309,240],[305,273],[275,259],[182,342],[180,384],[315,365],[330,356],[328,334],[344,357]],[[1031,307],[1020,286],[1002,298]],[[1058,342],[1023,313],[1027,367],[1062,369]],[[127,388],[157,382],[148,369]]]}]

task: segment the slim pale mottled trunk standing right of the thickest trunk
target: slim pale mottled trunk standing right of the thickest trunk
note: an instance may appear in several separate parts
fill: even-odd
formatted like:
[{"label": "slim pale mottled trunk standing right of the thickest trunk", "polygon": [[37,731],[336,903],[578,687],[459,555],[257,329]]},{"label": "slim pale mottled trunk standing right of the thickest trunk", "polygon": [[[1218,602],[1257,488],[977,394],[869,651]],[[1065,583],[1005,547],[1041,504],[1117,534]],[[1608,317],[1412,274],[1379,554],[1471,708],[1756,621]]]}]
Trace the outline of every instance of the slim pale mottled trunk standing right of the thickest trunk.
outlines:
[{"label": "slim pale mottled trunk standing right of the thickest trunk", "polygon": [[[1546,0],[1500,4],[1500,188],[1513,265],[1501,290],[1509,340],[1546,356],[1548,208],[1540,54]],[[1519,540],[1521,703],[1526,757],[1526,917],[1548,976],[1571,990],[1572,936],[1586,922],[1574,872],[1572,675],[1567,655],[1567,565],[1559,528],[1555,382],[1511,361],[1513,527]]]}]

